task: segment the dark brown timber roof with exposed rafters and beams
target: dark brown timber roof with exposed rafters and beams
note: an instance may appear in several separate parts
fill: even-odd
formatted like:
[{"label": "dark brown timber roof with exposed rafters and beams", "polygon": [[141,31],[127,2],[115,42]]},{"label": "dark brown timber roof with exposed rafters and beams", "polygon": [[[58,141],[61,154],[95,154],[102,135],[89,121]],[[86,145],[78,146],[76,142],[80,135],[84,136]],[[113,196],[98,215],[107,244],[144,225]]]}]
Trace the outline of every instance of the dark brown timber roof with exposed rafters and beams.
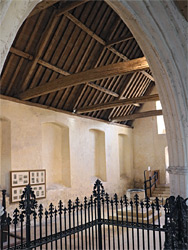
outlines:
[{"label": "dark brown timber roof with exposed rafters and beams", "polygon": [[45,0],[13,42],[1,94],[131,125],[143,103],[159,99],[150,95],[154,84],[136,40],[106,2]]}]

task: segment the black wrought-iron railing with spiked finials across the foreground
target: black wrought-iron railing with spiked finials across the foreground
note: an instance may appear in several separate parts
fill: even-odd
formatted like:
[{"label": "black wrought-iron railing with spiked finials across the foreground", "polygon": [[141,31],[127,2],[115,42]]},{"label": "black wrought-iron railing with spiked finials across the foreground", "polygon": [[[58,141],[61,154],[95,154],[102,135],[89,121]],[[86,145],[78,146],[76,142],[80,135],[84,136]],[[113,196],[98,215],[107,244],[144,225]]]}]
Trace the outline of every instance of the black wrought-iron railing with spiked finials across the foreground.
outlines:
[{"label": "black wrought-iron railing with spiked finials across the foreground", "polygon": [[187,249],[187,202],[110,198],[97,180],[83,203],[77,198],[44,209],[27,186],[19,209],[1,218],[1,249]]}]

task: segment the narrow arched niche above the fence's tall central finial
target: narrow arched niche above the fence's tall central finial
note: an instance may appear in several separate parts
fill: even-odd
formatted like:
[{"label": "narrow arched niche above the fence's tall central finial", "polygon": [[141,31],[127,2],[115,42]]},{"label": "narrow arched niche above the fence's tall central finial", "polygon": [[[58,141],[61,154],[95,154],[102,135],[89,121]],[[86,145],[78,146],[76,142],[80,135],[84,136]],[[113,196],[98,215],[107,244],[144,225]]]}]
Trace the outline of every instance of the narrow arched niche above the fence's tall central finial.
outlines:
[{"label": "narrow arched niche above the fence's tall central finial", "polygon": [[93,159],[94,159],[94,176],[107,181],[106,178],[106,150],[105,150],[105,133],[98,129],[89,130],[93,146]]}]

